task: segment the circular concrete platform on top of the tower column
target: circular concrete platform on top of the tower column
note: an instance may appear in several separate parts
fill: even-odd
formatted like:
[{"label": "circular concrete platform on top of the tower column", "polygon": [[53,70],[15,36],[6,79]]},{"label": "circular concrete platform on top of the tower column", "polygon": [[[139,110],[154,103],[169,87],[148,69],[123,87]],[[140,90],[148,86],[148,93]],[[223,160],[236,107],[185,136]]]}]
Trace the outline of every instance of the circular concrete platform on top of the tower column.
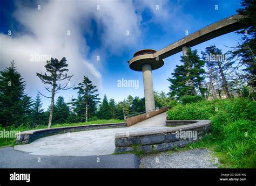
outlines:
[{"label": "circular concrete platform on top of the tower column", "polygon": [[142,66],[144,64],[151,65],[152,70],[156,70],[164,65],[163,59],[158,59],[154,56],[156,53],[154,49],[143,49],[134,53],[133,58],[129,61],[129,67],[135,71],[143,71]]}]

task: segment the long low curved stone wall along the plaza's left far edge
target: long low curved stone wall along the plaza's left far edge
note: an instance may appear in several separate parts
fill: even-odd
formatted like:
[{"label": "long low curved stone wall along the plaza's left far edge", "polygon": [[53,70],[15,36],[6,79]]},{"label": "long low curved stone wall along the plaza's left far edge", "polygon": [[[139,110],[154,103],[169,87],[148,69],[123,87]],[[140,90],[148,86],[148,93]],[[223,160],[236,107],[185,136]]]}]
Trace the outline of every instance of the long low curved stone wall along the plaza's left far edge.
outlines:
[{"label": "long low curved stone wall along the plaza's left far edge", "polygon": [[96,129],[102,129],[102,128],[117,128],[117,127],[126,127],[126,126],[127,125],[125,123],[112,123],[112,124],[94,124],[94,125],[44,128],[44,129],[38,129],[38,130],[32,130],[32,131],[24,131],[17,136],[16,145],[29,144],[30,142],[38,138],[43,138],[43,137],[54,135],[54,134],[96,130]]}]

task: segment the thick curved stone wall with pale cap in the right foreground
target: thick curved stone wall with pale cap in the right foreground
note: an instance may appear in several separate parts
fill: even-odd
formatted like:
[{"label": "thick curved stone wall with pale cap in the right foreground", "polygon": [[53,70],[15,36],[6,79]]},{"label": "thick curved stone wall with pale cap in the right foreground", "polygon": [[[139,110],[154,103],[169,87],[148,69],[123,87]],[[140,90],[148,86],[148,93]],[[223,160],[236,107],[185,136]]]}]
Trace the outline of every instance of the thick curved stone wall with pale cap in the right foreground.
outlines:
[{"label": "thick curved stone wall with pale cap in the right foreground", "polygon": [[[177,121],[180,122],[180,121]],[[211,129],[210,120],[187,120],[187,125],[163,127],[158,130],[117,133],[115,152],[142,151],[144,153],[181,148],[190,142],[198,141]]]}]

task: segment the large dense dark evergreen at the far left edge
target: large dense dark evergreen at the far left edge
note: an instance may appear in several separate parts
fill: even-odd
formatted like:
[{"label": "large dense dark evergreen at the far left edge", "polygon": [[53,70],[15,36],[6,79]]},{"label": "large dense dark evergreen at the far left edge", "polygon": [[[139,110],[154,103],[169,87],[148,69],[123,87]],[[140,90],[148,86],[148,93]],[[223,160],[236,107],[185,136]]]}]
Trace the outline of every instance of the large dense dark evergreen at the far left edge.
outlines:
[{"label": "large dense dark evergreen at the far left edge", "polygon": [[29,122],[31,98],[24,90],[25,81],[11,61],[10,67],[0,71],[0,124],[4,127]]}]

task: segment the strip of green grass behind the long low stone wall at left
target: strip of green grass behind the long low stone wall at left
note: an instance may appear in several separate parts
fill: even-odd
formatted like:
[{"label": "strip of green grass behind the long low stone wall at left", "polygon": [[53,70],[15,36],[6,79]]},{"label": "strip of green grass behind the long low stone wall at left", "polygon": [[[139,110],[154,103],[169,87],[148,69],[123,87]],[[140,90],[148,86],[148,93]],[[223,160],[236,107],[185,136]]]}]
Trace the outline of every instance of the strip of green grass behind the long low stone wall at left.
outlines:
[{"label": "strip of green grass behind the long low stone wall at left", "polygon": [[[95,120],[95,121],[88,121],[88,122],[81,122],[81,123],[65,123],[65,124],[53,124],[51,128],[55,127],[64,127],[64,126],[79,126],[79,125],[93,125],[93,124],[109,124],[109,123],[124,123],[124,120],[120,119],[110,119],[110,120]],[[0,131],[17,131],[17,132],[23,132],[23,131],[30,131],[30,130],[36,130],[36,129],[42,129],[47,128],[47,125],[37,125],[35,127],[31,127],[30,125],[20,125],[18,127],[11,126],[8,128],[3,128],[0,126]],[[16,138],[0,138],[0,147],[3,146],[14,146],[15,145]]]}]

